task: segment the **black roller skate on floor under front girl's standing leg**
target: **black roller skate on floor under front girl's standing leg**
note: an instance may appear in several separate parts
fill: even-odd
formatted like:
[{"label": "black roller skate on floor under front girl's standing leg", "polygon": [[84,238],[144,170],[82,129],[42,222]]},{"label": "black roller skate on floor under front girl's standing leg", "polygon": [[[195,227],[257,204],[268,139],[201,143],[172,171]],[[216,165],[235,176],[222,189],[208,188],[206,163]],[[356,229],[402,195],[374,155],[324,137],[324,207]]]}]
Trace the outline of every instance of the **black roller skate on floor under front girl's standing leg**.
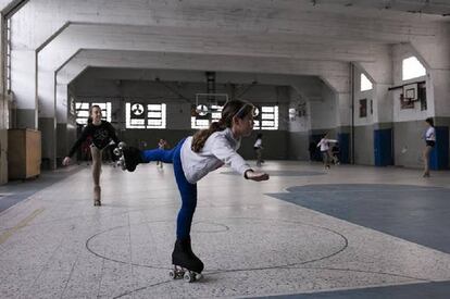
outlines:
[{"label": "black roller skate on floor under front girl's standing leg", "polygon": [[203,271],[203,263],[193,254],[190,247],[190,238],[176,240],[172,252],[173,270],[168,275],[173,279],[183,278],[187,283],[199,281]]}]

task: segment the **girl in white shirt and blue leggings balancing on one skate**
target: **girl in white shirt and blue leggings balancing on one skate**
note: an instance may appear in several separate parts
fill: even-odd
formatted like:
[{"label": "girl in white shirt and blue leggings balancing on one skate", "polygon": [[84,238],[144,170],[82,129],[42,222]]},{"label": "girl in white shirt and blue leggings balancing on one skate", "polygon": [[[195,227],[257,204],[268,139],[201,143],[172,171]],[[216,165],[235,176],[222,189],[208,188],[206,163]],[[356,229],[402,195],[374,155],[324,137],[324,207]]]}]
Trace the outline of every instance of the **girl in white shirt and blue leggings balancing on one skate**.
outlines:
[{"label": "girl in white shirt and blue leggings balancing on one skate", "polygon": [[175,179],[182,195],[182,209],[177,216],[176,242],[172,253],[174,265],[171,275],[183,277],[185,271],[195,276],[203,270],[203,263],[193,254],[190,245],[190,226],[197,205],[197,182],[224,164],[241,174],[246,179],[266,180],[268,175],[253,171],[236,151],[241,137],[253,129],[254,107],[251,103],[233,100],[225,103],[222,117],[208,129],[197,132],[171,149],[139,151],[125,148],[126,169],[134,171],[138,163],[162,161],[173,163]]}]

